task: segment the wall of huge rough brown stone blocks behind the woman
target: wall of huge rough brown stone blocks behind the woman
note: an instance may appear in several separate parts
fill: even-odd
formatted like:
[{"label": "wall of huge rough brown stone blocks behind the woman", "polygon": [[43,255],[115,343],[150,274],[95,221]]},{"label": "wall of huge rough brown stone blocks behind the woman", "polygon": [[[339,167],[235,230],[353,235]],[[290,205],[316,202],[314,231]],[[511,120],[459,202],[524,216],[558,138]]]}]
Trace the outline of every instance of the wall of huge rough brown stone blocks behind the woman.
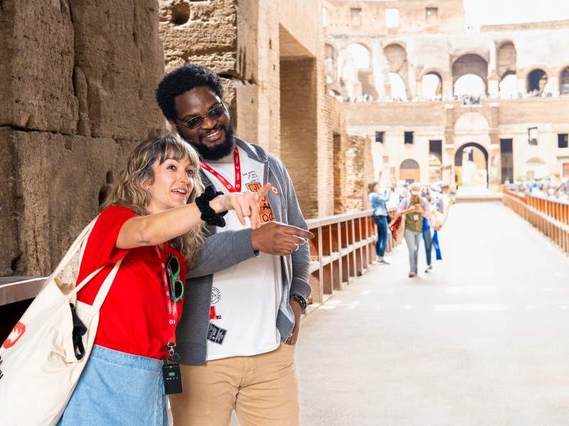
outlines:
[{"label": "wall of huge rough brown stone blocks behind the woman", "polygon": [[164,129],[156,0],[1,1],[0,276],[46,275]]}]

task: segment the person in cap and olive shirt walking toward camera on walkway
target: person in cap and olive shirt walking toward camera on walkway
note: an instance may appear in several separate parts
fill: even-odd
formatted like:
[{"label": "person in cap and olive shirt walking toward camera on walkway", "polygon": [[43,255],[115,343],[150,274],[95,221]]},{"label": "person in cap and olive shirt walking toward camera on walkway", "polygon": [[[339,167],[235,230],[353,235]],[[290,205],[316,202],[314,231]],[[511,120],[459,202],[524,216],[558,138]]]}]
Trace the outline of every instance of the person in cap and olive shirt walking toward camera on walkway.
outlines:
[{"label": "person in cap and olive shirt walking toward camera on walkway", "polygon": [[422,218],[429,215],[429,203],[421,197],[421,185],[417,182],[409,187],[406,197],[397,209],[397,215],[405,220],[405,243],[409,249],[409,278],[417,276],[419,246],[422,238]]}]

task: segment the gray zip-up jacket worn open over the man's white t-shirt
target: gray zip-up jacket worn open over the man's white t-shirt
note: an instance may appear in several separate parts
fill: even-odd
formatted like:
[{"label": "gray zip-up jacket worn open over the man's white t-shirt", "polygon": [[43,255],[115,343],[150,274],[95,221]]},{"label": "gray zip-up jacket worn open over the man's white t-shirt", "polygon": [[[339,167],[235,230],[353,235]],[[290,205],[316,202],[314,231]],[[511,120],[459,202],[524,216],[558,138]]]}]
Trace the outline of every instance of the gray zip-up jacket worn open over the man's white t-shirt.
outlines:
[{"label": "gray zip-up jacket worn open over the man's white t-shirt", "polygon": [[[267,195],[276,221],[307,229],[292,181],[281,161],[265,153],[259,146],[251,146],[239,138],[235,138],[235,141],[248,153],[250,158],[265,163],[263,184],[271,182],[280,194],[275,195],[269,191]],[[203,173],[201,173],[201,178],[204,185],[211,185],[211,181]],[[203,244],[196,267],[191,268],[186,277],[186,302],[184,302],[184,312],[176,329],[176,349],[184,364],[206,363],[213,273],[258,256],[258,252],[252,249],[251,229],[224,231],[216,234],[215,227],[208,227],[207,232],[209,236]],[[300,295],[304,299],[308,299],[310,295],[309,264],[308,244],[299,246],[299,249],[291,256],[281,256],[282,301],[276,327],[283,342],[292,333],[294,327],[294,313],[289,305],[289,295]],[[246,285],[246,283],[235,283],[235,285]],[[263,302],[265,301],[258,300],[258,303]]]}]

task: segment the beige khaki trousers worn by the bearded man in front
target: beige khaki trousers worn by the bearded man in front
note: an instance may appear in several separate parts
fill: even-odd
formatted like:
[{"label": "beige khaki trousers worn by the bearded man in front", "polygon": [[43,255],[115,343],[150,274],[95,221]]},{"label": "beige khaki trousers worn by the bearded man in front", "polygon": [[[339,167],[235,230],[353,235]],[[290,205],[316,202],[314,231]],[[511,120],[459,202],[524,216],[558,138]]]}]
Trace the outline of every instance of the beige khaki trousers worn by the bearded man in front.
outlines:
[{"label": "beige khaki trousers worn by the bearded man in front", "polygon": [[233,356],[202,366],[181,365],[184,393],[170,395],[174,426],[298,426],[294,346]]}]

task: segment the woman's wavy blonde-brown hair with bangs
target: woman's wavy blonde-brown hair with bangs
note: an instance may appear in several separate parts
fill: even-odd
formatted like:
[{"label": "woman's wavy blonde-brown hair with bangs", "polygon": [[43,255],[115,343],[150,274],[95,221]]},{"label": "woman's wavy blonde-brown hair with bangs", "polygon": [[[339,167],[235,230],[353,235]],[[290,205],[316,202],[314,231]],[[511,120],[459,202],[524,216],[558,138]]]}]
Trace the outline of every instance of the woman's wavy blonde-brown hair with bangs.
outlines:
[{"label": "woman's wavy blonde-brown hair with bangs", "polygon": [[[159,160],[161,164],[169,158],[174,160],[188,158],[191,165],[196,169],[196,173],[193,174],[193,190],[188,197],[188,203],[194,202],[196,197],[203,192],[203,183],[198,173],[198,153],[179,136],[169,133],[151,138],[134,148],[129,156],[127,168],[122,171],[117,184],[101,208],[104,209],[111,205],[124,206],[132,209],[139,216],[146,216],[150,193],[144,189],[144,183],[147,181],[154,182],[152,165],[156,160]],[[170,241],[184,255],[190,265],[196,263],[203,244],[203,231],[203,225],[194,226],[186,234]]]}]

